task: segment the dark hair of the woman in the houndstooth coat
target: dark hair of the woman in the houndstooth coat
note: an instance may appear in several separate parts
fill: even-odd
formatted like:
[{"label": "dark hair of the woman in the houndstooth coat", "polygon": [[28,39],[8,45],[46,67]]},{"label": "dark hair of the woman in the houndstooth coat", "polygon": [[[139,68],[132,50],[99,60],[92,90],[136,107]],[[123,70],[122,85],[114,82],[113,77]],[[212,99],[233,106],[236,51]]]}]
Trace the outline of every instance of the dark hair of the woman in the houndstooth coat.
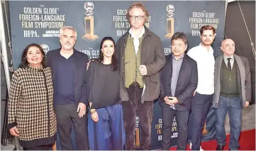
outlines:
[{"label": "dark hair of the woman in the houndstooth coat", "polygon": [[19,68],[26,68],[26,67],[28,67],[29,63],[28,63],[26,55],[27,55],[28,49],[30,47],[38,47],[39,48],[40,52],[43,55],[43,60],[42,60],[41,64],[42,64],[43,68],[45,68],[46,67],[46,64],[45,64],[45,52],[43,51],[43,48],[40,47],[40,45],[38,45],[36,43],[30,43],[29,45],[27,45],[27,47],[25,47],[25,49],[22,52],[21,64],[18,67]]}]

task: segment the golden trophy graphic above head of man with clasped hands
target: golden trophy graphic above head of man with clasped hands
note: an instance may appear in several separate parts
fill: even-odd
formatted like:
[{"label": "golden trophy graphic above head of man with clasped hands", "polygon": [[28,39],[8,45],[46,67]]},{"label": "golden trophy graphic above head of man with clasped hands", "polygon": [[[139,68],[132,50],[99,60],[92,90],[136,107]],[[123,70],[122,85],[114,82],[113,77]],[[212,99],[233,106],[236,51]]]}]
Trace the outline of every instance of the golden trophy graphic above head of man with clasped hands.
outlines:
[{"label": "golden trophy graphic above head of man with clasped hands", "polygon": [[174,6],[168,5],[166,10],[168,18],[166,19],[167,35],[165,35],[165,38],[171,39],[174,34]]}]

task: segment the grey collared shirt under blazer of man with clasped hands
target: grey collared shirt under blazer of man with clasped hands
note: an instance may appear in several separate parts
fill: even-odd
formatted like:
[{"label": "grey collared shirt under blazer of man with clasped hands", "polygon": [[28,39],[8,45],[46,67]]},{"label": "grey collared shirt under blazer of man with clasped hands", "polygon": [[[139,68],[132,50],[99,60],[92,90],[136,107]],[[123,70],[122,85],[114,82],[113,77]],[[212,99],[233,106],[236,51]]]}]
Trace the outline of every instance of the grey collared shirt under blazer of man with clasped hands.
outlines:
[{"label": "grey collared shirt under blazer of man with clasped hands", "polygon": [[178,60],[174,57],[174,55],[172,55],[172,83],[171,83],[172,96],[174,96],[175,94],[177,81],[179,77],[179,70],[180,70],[180,67],[182,67],[183,58],[184,58],[184,54]]}]

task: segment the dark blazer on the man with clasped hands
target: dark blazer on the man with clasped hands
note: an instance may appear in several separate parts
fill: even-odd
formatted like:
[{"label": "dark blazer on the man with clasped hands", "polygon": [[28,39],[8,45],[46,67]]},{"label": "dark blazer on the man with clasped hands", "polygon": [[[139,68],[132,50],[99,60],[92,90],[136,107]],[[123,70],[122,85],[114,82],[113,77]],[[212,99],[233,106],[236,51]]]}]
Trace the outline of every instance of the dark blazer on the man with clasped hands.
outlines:
[{"label": "dark blazer on the man with clasped hands", "polygon": [[[187,54],[184,54],[182,67],[179,70],[179,77],[174,97],[179,101],[175,104],[177,111],[190,111],[191,98],[197,86],[197,65]],[[172,96],[172,54],[166,56],[165,66],[160,72],[160,106],[169,108],[165,104],[165,96]]]}]

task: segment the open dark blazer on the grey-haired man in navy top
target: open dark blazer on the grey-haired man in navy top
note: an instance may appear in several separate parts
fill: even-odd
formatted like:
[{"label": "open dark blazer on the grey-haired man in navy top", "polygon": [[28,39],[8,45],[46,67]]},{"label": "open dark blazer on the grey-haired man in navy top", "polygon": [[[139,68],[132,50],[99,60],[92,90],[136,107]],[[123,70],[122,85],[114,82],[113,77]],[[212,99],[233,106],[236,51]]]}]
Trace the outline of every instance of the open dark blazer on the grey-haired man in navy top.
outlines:
[{"label": "open dark blazer on the grey-haired man in navy top", "polygon": [[[76,55],[76,69],[74,70],[74,100],[76,104],[84,103],[88,105],[87,98],[87,62],[89,61],[88,55],[74,50]],[[52,69],[52,81],[54,86],[54,79],[56,77],[55,65],[58,62],[55,60],[57,55],[60,55],[60,48],[57,50],[50,50],[47,53],[47,65]]]}]

